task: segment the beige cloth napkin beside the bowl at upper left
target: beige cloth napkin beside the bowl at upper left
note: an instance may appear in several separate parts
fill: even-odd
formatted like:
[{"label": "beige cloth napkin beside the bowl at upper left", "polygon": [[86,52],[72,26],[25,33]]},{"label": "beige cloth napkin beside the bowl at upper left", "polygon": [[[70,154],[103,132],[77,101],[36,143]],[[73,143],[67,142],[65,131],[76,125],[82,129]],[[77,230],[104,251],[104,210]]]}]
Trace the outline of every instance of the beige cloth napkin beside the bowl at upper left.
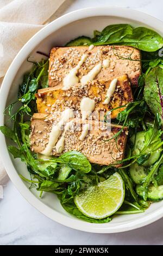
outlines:
[{"label": "beige cloth napkin beside the bowl at upper left", "polygon": [[[0,81],[17,52],[65,0],[0,0]],[[53,15],[53,19],[55,16]],[[0,199],[7,174],[0,161]]]}]

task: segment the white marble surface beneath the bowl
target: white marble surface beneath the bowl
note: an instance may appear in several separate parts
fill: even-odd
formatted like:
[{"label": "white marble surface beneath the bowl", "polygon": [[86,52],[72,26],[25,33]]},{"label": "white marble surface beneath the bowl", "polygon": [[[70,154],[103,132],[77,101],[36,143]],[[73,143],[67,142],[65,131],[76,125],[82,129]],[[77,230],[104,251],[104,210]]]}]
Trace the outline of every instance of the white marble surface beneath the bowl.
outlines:
[{"label": "white marble surface beneath the bowl", "polygon": [[[67,0],[57,16],[72,10],[102,5],[133,8],[160,20],[160,0]],[[11,181],[0,200],[0,245],[162,245],[163,218],[147,227],[119,234],[91,234],[64,227],[35,210],[16,190]]]}]

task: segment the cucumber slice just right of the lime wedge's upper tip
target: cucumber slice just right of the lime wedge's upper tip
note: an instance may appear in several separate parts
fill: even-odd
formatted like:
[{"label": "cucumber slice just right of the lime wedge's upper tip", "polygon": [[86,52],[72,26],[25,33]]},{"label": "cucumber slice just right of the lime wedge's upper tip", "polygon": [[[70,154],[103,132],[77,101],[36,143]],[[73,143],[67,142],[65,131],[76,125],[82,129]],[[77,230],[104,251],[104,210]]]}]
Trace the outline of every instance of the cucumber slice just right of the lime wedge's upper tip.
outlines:
[{"label": "cucumber slice just right of the lime wedge's upper tip", "polygon": [[140,181],[147,176],[146,168],[144,166],[139,166],[138,163],[131,164],[129,172],[136,184],[140,184]]}]

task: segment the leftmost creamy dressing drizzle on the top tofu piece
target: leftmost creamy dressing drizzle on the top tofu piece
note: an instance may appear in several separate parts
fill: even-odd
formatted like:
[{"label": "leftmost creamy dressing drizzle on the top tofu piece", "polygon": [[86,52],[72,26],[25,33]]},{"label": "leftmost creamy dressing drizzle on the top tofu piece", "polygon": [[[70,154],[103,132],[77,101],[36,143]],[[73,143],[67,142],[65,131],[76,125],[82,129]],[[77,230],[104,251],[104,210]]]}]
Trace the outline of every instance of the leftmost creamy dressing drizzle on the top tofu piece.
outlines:
[{"label": "leftmost creamy dressing drizzle on the top tofu piece", "polygon": [[64,87],[62,88],[62,90],[69,90],[72,86],[74,86],[79,82],[79,77],[77,77],[77,72],[85,62],[86,58],[87,58],[87,54],[83,54],[78,65],[75,66],[73,69],[71,69],[70,72],[65,76],[63,80]]}]

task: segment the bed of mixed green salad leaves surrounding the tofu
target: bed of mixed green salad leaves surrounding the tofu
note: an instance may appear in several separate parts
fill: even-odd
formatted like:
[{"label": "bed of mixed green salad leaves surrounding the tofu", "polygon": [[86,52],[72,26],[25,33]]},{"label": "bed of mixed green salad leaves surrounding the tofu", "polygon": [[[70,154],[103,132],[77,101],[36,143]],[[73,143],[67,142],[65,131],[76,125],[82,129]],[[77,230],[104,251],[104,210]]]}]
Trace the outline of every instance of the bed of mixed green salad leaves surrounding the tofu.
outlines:
[{"label": "bed of mixed green salad leaves surrounding the tofu", "polygon": [[[143,212],[150,203],[148,199],[150,199],[151,187],[152,192],[156,191],[154,199],[162,199],[162,196],[158,198],[158,192],[162,190],[163,185],[161,131],[161,125],[163,127],[163,58],[159,57],[158,52],[163,46],[163,40],[152,29],[116,24],[105,27],[102,32],[95,30],[93,38],[79,36],[68,42],[66,46],[91,44],[127,45],[142,51],[143,73],[138,79],[138,87],[132,88],[134,101],[117,107],[116,109],[126,108],[118,113],[116,119],[112,120],[112,123],[121,125],[121,129],[109,139],[110,141],[115,139],[117,142],[124,127],[128,127],[128,141],[123,160],[114,159],[109,166],[101,166],[90,163],[78,151],[68,151],[59,157],[51,156],[49,159],[40,159],[30,150],[30,118],[33,113],[37,112],[35,99],[37,90],[48,87],[48,60],[32,62],[28,58],[28,62],[33,63],[32,69],[23,76],[17,101],[11,103],[4,112],[9,115],[13,126],[12,128],[1,126],[0,130],[16,145],[16,147],[9,145],[9,152],[14,158],[20,158],[27,164],[30,178],[20,175],[21,178],[35,186],[37,191],[40,191],[40,197],[43,192],[57,194],[62,207],[69,214],[90,223],[107,223],[111,221],[111,217],[96,220],[83,215],[75,205],[74,198],[90,186],[96,186],[99,182],[105,181],[115,172],[120,173],[126,187],[124,202],[116,214]],[[131,57],[124,59],[131,60]],[[114,110],[111,109],[110,112]],[[107,122],[106,117],[110,112],[106,113],[104,121]],[[141,132],[144,136],[138,139],[137,149],[139,151],[136,151],[134,147],[137,142],[135,141]],[[134,138],[133,141],[132,138]],[[132,171],[137,172],[138,176],[140,175],[139,167],[148,169],[147,174],[143,176],[145,178],[139,179],[141,193],[138,192],[136,181],[130,173],[130,168],[134,163],[137,164],[137,168]],[[159,190],[156,189],[157,186],[161,186]]]}]

